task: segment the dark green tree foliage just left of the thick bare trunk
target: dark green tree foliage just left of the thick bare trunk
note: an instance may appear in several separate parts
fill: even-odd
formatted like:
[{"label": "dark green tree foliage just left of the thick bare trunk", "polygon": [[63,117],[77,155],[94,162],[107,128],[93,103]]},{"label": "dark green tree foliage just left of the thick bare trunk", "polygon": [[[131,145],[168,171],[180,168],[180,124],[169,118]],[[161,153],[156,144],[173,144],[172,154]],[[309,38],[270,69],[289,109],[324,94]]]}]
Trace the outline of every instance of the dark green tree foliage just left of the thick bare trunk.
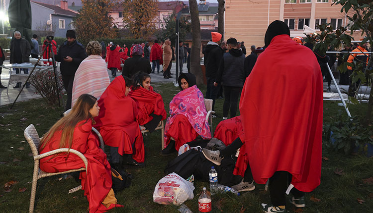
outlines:
[{"label": "dark green tree foliage just left of the thick bare trunk", "polygon": [[[161,40],[169,38],[172,46],[175,45],[176,36],[176,14],[172,13],[169,16],[163,18],[166,24],[163,26],[164,29],[160,30],[157,37]],[[185,41],[187,33],[190,32],[190,16],[181,16],[179,20],[179,39]]]}]

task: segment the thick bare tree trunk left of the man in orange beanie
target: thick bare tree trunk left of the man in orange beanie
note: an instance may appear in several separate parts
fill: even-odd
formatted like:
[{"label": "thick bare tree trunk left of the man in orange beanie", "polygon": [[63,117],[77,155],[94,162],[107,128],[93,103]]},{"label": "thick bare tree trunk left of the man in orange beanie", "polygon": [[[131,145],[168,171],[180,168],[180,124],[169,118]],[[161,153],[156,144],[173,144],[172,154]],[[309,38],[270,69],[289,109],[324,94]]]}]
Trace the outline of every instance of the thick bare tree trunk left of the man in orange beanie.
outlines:
[{"label": "thick bare tree trunk left of the man in orange beanie", "polygon": [[[201,51],[201,30],[198,17],[198,5],[196,0],[189,0],[189,11],[191,19],[191,51],[190,72],[195,75],[197,85],[203,85],[203,74],[201,70],[199,53]],[[178,44],[176,44],[178,46]]]}]

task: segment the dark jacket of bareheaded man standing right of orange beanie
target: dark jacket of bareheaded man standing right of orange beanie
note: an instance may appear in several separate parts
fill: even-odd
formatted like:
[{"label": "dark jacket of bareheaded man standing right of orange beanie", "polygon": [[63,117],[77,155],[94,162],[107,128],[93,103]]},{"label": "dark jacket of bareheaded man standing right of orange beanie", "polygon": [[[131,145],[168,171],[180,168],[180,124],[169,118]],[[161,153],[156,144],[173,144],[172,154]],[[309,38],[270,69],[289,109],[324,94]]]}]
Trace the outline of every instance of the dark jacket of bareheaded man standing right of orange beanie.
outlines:
[{"label": "dark jacket of bareheaded man standing right of orange beanie", "polygon": [[224,53],[215,82],[223,82],[223,86],[243,87],[246,77],[245,55],[242,51],[231,49]]}]

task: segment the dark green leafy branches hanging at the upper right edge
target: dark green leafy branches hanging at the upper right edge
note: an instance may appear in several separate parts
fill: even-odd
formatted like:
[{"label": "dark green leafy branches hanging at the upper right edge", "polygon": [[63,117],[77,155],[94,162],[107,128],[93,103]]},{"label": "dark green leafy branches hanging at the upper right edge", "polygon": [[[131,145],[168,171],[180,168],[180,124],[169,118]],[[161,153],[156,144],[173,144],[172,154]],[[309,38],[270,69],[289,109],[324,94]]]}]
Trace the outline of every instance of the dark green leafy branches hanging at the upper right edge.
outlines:
[{"label": "dark green leafy branches hanging at the upper right edge", "polygon": [[[306,42],[313,43],[314,49],[320,53],[325,53],[328,46],[332,46],[338,49],[340,45],[345,46],[350,44],[353,37],[347,34],[347,29],[351,30],[351,35],[354,33],[361,33],[365,35],[364,40],[361,43],[369,42],[371,49],[373,47],[373,1],[372,0],[335,0],[334,4],[340,4],[342,6],[341,12],[349,14],[347,18],[352,22],[345,27],[339,27],[337,30],[333,30],[330,24],[323,24],[319,26],[321,33],[316,36],[307,35]],[[351,14],[351,15],[350,15]],[[369,96],[368,110],[366,119],[368,123],[372,122],[373,117],[373,54],[367,54],[369,57],[368,63],[366,61],[359,61],[357,58],[354,64],[344,62],[339,66],[341,72],[347,71],[347,66],[353,68],[353,72],[350,75],[353,83],[366,84],[371,87],[371,93]],[[358,61],[358,63],[356,63]],[[366,66],[362,64],[365,63]],[[365,67],[365,68],[363,68]],[[360,86],[359,85],[359,86]],[[352,97],[353,103],[358,103],[356,96]]]}]

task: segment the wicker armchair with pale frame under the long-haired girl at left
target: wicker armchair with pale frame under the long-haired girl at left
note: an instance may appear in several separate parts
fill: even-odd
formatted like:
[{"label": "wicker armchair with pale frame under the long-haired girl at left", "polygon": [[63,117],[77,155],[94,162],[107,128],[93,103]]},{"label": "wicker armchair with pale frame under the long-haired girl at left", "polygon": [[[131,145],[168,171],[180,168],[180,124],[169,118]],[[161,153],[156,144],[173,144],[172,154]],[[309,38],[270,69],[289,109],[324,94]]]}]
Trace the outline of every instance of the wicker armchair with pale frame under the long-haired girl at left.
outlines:
[{"label": "wicker armchair with pale frame under the long-haired girl at left", "polygon": [[[32,156],[34,157],[34,174],[32,176],[31,198],[30,198],[30,207],[29,207],[29,213],[33,213],[34,204],[35,204],[35,195],[36,195],[36,185],[37,185],[38,179],[43,178],[43,177],[58,175],[58,174],[75,172],[75,171],[84,171],[84,170],[86,170],[86,168],[88,166],[88,162],[87,162],[86,157],[84,157],[84,155],[82,153],[80,153],[76,150],[73,150],[73,149],[69,150],[68,148],[61,148],[61,149],[53,150],[53,151],[50,151],[50,152],[39,155],[38,150],[39,150],[40,138],[39,138],[39,135],[38,135],[38,133],[37,133],[33,124],[30,124],[24,130],[23,134],[24,134],[24,137],[26,138],[26,140],[28,142],[28,145],[30,145]],[[44,171],[39,169],[39,160],[40,159],[48,157],[48,156],[52,156],[52,155],[55,155],[55,154],[58,154],[58,153],[62,153],[62,152],[70,152],[70,153],[73,153],[73,154],[79,156],[83,160],[86,167],[85,168],[82,167],[82,168],[79,168],[79,169],[71,169],[71,170],[64,171],[64,172],[54,172],[54,173],[44,172]],[[76,192],[80,189],[82,189],[81,185],[71,189],[69,191],[69,193]]]}]

